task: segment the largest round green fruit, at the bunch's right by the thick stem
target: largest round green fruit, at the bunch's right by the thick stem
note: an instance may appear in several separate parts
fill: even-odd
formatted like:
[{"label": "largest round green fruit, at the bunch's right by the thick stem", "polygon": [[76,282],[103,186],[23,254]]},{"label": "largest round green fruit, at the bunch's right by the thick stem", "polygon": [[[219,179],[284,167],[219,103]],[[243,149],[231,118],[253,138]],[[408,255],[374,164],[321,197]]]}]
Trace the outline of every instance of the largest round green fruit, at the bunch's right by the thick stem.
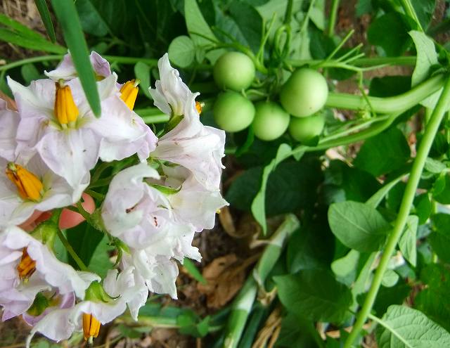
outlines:
[{"label": "largest round green fruit, at the bunch's right by the thick stem", "polygon": [[283,108],[297,117],[307,117],[321,110],[327,97],[325,77],[306,67],[295,70],[280,92]]}]

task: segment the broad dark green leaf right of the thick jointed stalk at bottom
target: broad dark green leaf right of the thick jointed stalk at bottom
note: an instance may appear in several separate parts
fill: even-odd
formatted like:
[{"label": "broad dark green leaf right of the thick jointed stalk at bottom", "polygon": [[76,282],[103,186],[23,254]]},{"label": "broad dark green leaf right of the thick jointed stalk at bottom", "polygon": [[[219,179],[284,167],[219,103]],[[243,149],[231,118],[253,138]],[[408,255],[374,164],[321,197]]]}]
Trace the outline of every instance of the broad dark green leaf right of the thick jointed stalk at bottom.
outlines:
[{"label": "broad dark green leaf right of the thick jointed stalk at bottom", "polygon": [[340,323],[352,304],[352,293],[330,271],[304,270],[276,276],[278,297],[288,312],[314,321]]}]

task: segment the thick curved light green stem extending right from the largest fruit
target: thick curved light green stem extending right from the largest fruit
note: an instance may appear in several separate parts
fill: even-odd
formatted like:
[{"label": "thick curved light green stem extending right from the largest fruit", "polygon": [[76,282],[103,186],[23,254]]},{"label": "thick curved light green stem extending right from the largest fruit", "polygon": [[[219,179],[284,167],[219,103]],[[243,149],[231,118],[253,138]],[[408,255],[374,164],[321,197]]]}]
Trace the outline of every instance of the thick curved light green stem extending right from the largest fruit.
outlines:
[{"label": "thick curved light green stem extending right from the largest fruit", "polygon": [[[436,75],[418,84],[399,96],[379,98],[373,96],[356,96],[354,94],[330,93],[326,105],[330,108],[345,108],[350,110],[372,110],[373,112],[384,114],[408,110],[420,101],[438,91],[444,82],[443,75]],[[368,108],[367,101],[371,108]]]}]

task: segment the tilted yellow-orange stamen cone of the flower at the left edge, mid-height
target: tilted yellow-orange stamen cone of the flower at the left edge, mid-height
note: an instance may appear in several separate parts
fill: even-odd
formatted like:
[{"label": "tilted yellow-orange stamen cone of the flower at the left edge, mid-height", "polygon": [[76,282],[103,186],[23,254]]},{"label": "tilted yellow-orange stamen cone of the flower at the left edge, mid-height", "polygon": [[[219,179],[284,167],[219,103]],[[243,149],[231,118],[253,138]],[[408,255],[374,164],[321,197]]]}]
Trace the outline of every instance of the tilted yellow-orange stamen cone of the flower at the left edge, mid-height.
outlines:
[{"label": "tilted yellow-orange stamen cone of the flower at the left edge, mid-height", "polygon": [[13,181],[19,195],[24,200],[40,200],[44,186],[39,178],[20,165],[9,162],[6,167],[6,176]]}]

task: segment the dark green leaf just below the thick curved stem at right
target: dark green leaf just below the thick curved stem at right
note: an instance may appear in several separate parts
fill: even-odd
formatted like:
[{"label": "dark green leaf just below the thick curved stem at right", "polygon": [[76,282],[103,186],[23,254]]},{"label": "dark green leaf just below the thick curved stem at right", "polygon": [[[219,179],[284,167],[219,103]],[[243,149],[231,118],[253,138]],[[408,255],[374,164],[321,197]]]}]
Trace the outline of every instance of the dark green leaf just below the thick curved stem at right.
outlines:
[{"label": "dark green leaf just below the thick curved stem at right", "polygon": [[369,138],[353,164],[373,176],[380,176],[401,168],[410,155],[411,150],[404,134],[397,128],[391,128]]}]

